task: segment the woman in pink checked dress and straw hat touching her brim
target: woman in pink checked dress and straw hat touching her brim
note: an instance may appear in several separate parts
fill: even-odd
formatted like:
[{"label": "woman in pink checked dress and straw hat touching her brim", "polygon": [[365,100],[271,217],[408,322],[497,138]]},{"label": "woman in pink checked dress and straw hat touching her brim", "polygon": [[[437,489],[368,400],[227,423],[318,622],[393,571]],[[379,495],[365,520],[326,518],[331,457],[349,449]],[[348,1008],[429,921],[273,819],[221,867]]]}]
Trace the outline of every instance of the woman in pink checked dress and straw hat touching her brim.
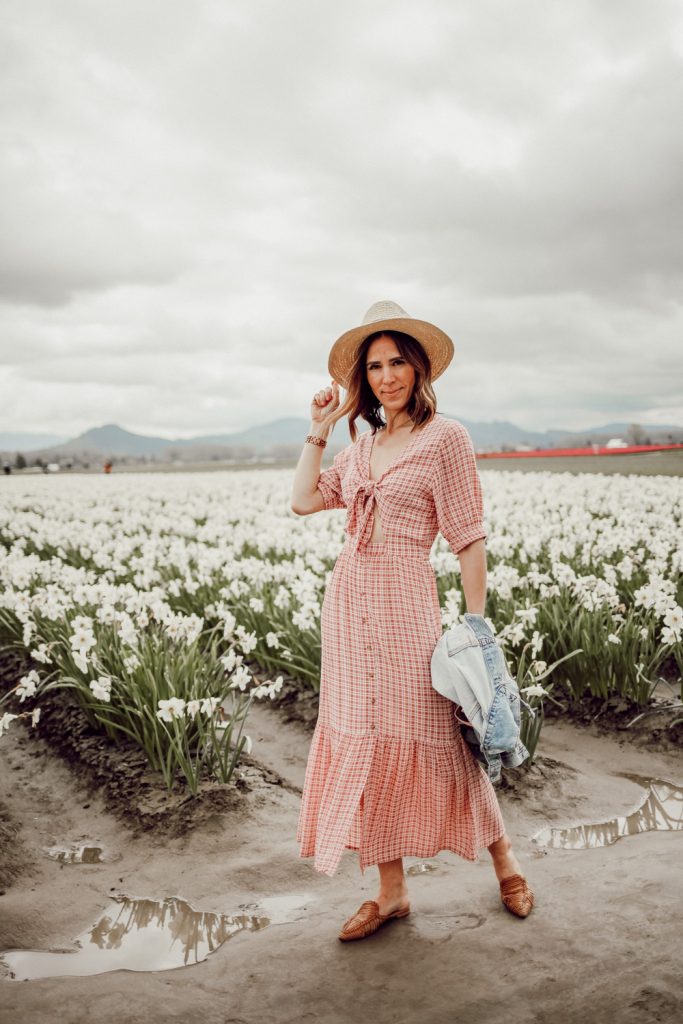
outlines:
[{"label": "woman in pink checked dress and straw hat touching her brim", "polygon": [[[372,306],[331,349],[332,386],[313,397],[294,476],[297,514],[347,509],[322,606],[319,711],[297,828],[300,855],[321,871],[334,874],[347,848],[361,872],[379,867],[377,898],[342,926],[343,941],[410,912],[404,856],[452,850],[476,860],[486,847],[507,908],[523,918],[533,904],[494,787],[453,703],[431,686],[442,625],[429,553],[439,529],[458,555],[468,611],[483,614],[486,591],[472,443],[436,412],[431,386],[453,353],[433,325],[393,302]],[[321,472],[330,430],[346,414],[352,442]],[[371,426],[360,435],[357,416]]]}]

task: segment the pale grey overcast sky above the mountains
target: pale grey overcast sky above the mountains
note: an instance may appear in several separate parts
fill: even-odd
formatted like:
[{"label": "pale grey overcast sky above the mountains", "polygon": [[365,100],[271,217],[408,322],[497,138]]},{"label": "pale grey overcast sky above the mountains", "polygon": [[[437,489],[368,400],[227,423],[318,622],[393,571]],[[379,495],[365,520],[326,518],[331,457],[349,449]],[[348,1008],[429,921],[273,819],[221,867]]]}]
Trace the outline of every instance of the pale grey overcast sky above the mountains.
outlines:
[{"label": "pale grey overcast sky above the mountains", "polygon": [[683,424],[678,0],[0,12],[0,431],[307,417],[384,298],[443,413]]}]

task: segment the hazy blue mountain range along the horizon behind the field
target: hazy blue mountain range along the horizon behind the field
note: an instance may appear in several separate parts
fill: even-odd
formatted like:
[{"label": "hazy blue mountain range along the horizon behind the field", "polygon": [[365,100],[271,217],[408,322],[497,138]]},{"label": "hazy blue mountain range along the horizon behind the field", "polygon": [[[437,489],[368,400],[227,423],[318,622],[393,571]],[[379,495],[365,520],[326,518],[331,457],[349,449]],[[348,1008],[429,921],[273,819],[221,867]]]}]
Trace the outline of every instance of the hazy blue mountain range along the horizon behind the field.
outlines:
[{"label": "hazy blue mountain range along the horizon behind the field", "polygon": [[[614,436],[635,439],[634,429],[640,432],[639,440],[645,442],[683,440],[683,427],[670,424],[639,424],[635,428],[629,423],[604,423],[585,430],[539,431],[526,430],[506,420],[480,422],[462,417],[458,419],[467,427],[478,452],[581,445],[592,441],[604,442]],[[266,457],[279,461],[298,456],[309,425],[310,421],[306,418],[286,417],[230,433],[174,439],[135,434],[115,423],[93,427],[66,440],[45,434],[0,433],[0,455],[4,459],[13,459],[20,452],[30,454],[32,461],[37,458],[54,461],[70,457],[77,460],[111,457],[162,462]],[[365,423],[362,428],[367,429]],[[345,447],[349,441],[346,420],[340,421],[330,438],[330,452]]]}]

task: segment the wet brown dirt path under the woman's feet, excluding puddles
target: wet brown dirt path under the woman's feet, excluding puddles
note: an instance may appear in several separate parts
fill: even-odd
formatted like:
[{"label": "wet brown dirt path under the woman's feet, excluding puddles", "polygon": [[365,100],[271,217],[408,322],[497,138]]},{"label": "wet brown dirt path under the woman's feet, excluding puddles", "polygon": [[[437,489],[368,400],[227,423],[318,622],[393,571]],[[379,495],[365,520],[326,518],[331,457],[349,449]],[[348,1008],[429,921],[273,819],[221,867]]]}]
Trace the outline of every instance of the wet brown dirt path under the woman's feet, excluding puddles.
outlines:
[{"label": "wet brown dirt path under the woman's feet, excluding puddles", "polygon": [[[683,834],[648,833],[587,851],[543,852],[529,840],[548,824],[630,811],[642,791],[614,772],[682,784],[679,754],[649,754],[549,723],[546,760],[524,786],[501,792],[537,892],[532,914],[519,921],[506,912],[485,852],[474,864],[443,853],[412,876],[411,918],[342,944],[338,927],[375,895],[376,872],[361,878],[350,851],[334,879],[298,858],[296,787],[310,731],[284,723],[275,709],[252,711],[253,757],[288,785],[255,782],[239,807],[166,839],[134,838],[44,741],[22,728],[3,737],[0,800],[22,823],[26,868],[0,896],[1,950],[72,949],[120,893],[178,896],[198,909],[261,922],[203,963],[175,970],[5,977],[3,1021],[52,1024],[57,1009],[65,1024],[347,1024],[358,1012],[395,1024],[680,1019]],[[59,864],[41,852],[85,841],[117,859]]]}]

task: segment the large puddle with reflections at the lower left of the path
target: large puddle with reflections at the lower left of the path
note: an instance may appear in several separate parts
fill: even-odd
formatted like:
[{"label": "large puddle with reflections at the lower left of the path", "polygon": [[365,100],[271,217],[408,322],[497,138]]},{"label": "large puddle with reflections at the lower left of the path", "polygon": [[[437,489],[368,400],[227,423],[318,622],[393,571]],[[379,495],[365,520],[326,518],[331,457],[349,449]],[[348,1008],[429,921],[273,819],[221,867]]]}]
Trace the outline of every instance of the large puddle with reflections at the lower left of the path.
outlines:
[{"label": "large puddle with reflections at the lower left of the path", "polygon": [[102,974],[105,971],[167,971],[199,964],[242,931],[270,924],[256,914],[205,913],[177,897],[165,900],[115,897],[95,924],[75,940],[76,950],[15,949],[0,953],[11,979]]}]

